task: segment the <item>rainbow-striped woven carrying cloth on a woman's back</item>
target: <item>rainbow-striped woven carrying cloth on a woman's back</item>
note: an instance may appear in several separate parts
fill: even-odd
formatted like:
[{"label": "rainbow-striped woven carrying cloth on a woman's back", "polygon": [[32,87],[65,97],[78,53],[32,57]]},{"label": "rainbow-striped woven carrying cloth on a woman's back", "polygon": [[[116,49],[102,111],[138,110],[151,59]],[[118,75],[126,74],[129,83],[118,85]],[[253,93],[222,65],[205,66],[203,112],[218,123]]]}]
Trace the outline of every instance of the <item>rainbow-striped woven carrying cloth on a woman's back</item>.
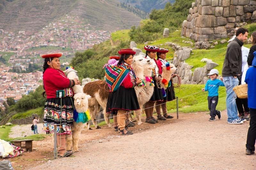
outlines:
[{"label": "rainbow-striped woven carrying cloth on a woman's back", "polygon": [[106,82],[111,92],[115,92],[119,88],[131,69],[128,65],[108,65],[105,67]]}]

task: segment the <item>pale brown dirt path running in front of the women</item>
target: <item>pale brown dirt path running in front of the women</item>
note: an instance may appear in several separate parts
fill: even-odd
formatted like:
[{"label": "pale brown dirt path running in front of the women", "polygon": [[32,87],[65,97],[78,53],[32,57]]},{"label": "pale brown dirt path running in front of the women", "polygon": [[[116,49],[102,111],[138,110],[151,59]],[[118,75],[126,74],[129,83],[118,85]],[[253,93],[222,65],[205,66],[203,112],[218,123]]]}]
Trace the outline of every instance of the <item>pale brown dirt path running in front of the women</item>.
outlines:
[{"label": "pale brown dirt path running in front of the women", "polygon": [[47,160],[52,158],[48,137],[12,162],[16,169],[256,169],[256,155],[244,154],[249,122],[229,125],[226,112],[221,120],[208,118],[180,114],[179,120],[130,128],[135,134],[122,137],[108,127],[84,130],[80,151],[55,160]]}]

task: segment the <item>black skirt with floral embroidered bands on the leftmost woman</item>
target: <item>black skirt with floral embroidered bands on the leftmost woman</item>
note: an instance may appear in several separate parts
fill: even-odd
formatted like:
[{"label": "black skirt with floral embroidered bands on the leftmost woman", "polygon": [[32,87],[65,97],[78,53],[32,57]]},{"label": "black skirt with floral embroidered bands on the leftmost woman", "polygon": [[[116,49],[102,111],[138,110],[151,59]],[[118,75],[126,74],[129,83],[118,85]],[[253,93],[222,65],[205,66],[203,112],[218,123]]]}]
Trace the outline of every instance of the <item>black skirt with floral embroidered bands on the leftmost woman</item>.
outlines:
[{"label": "black skirt with floral embroidered bands on the leftmost woman", "polygon": [[54,124],[57,124],[57,134],[72,134],[73,98],[51,98],[44,103],[43,131],[54,133]]}]

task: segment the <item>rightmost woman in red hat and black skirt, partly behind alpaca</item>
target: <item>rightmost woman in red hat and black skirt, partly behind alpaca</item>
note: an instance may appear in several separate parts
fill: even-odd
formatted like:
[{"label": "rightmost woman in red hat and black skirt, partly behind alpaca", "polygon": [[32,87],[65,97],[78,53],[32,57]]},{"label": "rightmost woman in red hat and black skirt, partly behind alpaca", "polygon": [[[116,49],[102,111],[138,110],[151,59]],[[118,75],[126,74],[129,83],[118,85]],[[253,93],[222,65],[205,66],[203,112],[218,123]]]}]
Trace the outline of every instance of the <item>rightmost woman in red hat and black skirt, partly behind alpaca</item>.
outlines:
[{"label": "rightmost woman in red hat and black skirt, partly behind alpaca", "polygon": [[[167,62],[165,59],[166,59],[166,53],[168,53],[168,49],[166,48],[159,48],[156,55],[157,55],[157,65],[158,65],[158,68],[159,68],[159,74],[162,74],[162,65],[165,65],[165,63]],[[175,74],[172,75],[171,77],[171,80],[172,81],[172,78],[175,77]],[[166,108],[166,102],[167,101],[172,101],[175,99],[175,93],[174,93],[174,90],[173,90],[173,87],[172,87],[172,83],[171,83],[171,86],[170,87],[167,87],[166,90],[165,90],[165,95],[164,95],[164,100],[163,101],[157,101],[156,102],[156,113],[157,113],[157,119],[158,120],[165,120],[165,119],[172,119],[173,116],[171,115],[168,115],[167,114],[167,108]],[[161,115],[161,107],[162,107],[162,111],[163,111],[163,116]]]}]

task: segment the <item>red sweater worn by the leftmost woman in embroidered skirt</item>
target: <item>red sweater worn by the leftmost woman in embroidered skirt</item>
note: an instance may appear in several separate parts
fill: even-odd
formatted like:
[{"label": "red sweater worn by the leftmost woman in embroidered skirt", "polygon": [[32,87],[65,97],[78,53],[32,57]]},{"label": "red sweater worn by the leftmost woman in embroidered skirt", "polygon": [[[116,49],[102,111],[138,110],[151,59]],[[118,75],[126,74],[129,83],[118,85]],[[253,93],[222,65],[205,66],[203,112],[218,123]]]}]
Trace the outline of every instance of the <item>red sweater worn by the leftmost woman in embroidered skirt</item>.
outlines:
[{"label": "red sweater worn by the leftmost woman in embroidered skirt", "polygon": [[52,68],[45,70],[43,81],[47,99],[56,98],[57,90],[63,90],[73,85],[72,80],[69,80],[63,71]]}]

